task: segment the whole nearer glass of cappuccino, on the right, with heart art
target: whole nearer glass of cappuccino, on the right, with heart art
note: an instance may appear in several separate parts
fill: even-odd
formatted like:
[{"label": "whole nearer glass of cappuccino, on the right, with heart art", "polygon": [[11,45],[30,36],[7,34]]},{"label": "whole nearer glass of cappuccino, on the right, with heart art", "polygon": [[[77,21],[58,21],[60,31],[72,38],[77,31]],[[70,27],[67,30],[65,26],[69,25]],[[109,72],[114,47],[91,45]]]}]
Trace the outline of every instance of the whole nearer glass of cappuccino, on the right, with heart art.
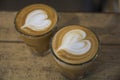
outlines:
[{"label": "whole nearer glass of cappuccino, on the right, with heart art", "polygon": [[97,55],[99,41],[90,29],[70,25],[52,39],[52,51],[60,71],[71,79],[82,76]]}]

